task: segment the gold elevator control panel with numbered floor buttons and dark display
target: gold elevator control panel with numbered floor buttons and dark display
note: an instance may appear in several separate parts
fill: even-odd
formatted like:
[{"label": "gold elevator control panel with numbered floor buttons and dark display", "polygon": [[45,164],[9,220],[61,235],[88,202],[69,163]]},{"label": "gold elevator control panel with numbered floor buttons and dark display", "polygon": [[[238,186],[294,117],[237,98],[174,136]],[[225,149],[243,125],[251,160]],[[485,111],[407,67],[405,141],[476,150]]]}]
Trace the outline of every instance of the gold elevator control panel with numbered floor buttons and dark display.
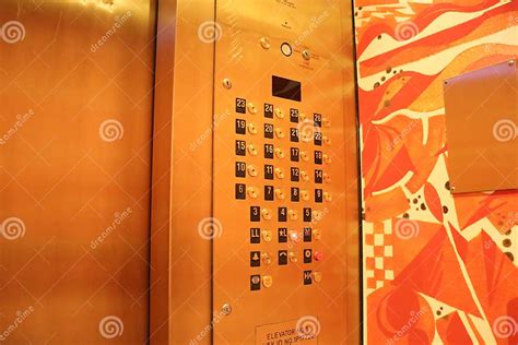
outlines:
[{"label": "gold elevator control panel with numbered floor buttons and dark display", "polygon": [[338,344],[348,245],[340,10],[245,2],[243,15],[233,1],[217,4],[214,118],[232,120],[213,129],[213,309],[232,312],[214,342]]}]

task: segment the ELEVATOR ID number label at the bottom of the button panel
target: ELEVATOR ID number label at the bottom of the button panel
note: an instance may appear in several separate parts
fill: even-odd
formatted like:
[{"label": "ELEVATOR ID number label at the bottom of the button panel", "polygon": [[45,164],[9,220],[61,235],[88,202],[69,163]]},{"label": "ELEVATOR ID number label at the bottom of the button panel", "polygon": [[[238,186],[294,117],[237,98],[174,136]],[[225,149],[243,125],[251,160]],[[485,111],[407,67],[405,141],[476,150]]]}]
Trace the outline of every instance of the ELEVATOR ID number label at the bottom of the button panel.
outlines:
[{"label": "ELEVATOR ID number label at the bottom of the button panel", "polygon": [[318,334],[297,330],[297,320],[259,325],[256,328],[256,345],[318,344]]}]

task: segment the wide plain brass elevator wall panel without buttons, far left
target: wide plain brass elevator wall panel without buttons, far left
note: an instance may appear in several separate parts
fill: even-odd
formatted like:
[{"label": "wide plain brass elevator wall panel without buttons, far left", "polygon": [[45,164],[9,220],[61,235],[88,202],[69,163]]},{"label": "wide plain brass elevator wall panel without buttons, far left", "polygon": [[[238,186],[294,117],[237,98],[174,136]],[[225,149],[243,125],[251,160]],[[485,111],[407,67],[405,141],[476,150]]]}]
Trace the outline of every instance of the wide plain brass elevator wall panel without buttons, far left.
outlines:
[{"label": "wide plain brass elevator wall panel without buttons, far left", "polygon": [[154,12],[0,4],[2,344],[148,337]]}]

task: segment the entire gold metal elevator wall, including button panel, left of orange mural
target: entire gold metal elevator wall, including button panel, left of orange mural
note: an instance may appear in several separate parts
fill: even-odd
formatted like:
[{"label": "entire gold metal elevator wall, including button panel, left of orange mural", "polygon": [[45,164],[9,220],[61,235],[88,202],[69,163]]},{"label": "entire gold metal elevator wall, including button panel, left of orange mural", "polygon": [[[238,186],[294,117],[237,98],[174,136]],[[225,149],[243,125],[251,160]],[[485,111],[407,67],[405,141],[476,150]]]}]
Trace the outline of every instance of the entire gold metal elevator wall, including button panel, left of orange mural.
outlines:
[{"label": "entire gold metal elevator wall, including button panel, left of orange mural", "polygon": [[360,343],[350,1],[0,7],[5,344]]}]

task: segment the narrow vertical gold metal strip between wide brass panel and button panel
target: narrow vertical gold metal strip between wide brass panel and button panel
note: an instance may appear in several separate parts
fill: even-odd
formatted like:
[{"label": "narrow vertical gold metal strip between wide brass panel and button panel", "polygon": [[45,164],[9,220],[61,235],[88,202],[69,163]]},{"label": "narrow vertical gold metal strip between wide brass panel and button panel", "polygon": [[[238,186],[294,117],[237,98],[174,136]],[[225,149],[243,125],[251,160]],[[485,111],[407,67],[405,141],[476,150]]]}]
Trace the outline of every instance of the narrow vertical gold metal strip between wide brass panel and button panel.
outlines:
[{"label": "narrow vertical gold metal strip between wide brass panel and button panel", "polygon": [[[151,343],[210,344],[213,1],[161,1],[154,124]],[[173,97],[170,97],[173,96]],[[173,99],[172,99],[173,98]],[[168,243],[168,245],[167,245]]]}]

